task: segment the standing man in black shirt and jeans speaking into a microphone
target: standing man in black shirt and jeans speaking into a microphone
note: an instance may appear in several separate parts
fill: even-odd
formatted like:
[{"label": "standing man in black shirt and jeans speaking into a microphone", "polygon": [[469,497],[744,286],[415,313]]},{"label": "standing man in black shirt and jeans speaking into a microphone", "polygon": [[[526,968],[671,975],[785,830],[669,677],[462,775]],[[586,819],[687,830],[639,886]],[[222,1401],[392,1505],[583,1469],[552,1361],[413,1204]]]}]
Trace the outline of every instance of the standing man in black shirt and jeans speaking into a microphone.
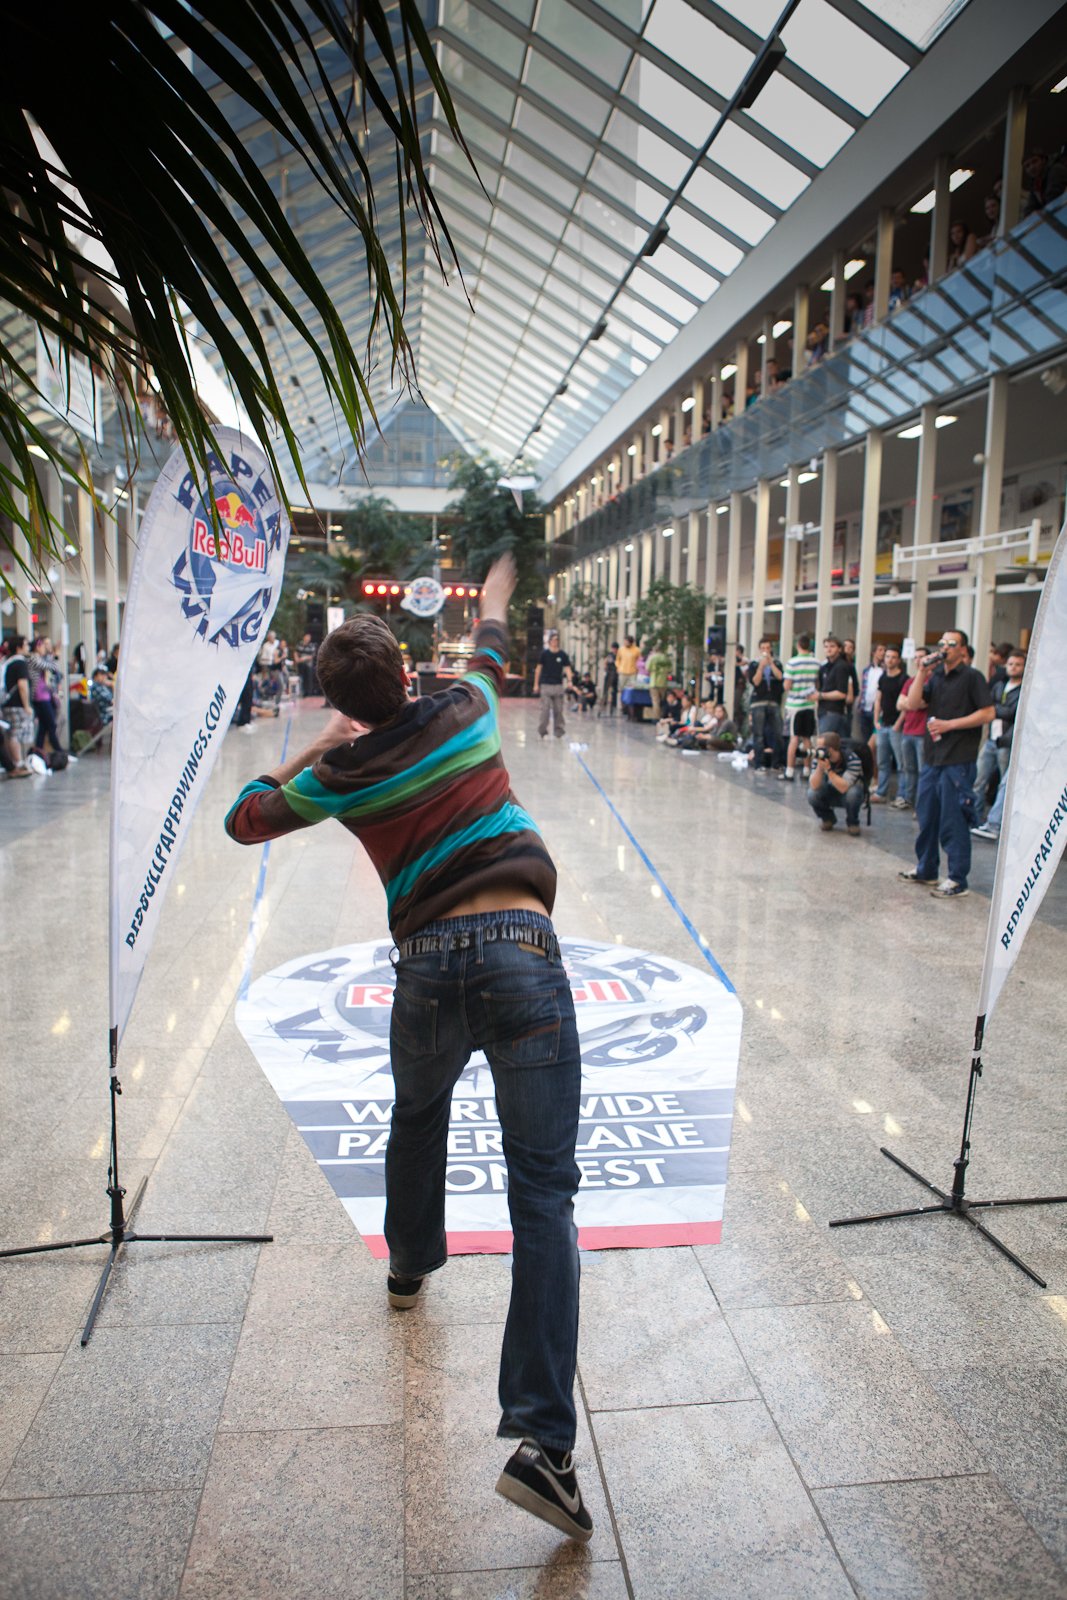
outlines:
[{"label": "standing man in black shirt and jeans speaking into a microphone", "polygon": [[[974,821],[971,790],[982,728],[993,720],[989,683],[968,666],[966,634],[958,627],[945,629],[937,650],[918,662],[901,704],[905,710],[929,709],[923,744],[926,765],[915,800],[915,867],[901,872],[901,877],[909,883],[929,883],[937,899],[955,899],[968,891]],[[941,882],[939,845],[949,862],[949,875]]]}]

